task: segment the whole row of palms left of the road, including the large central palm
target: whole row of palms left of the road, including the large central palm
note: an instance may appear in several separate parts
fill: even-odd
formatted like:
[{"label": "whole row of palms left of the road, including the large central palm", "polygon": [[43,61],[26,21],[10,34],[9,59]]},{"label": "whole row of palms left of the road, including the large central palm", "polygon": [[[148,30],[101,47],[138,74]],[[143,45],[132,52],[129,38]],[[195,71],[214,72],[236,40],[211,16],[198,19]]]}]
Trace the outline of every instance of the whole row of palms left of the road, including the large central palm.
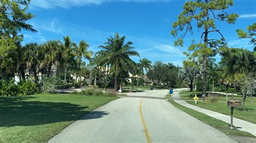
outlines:
[{"label": "whole row of palms left of the road, including the large central palm", "polygon": [[[83,59],[87,59],[91,66],[96,66],[93,70],[94,84],[96,85],[97,77],[102,77],[103,81],[113,85],[117,90],[118,86],[122,86],[129,78],[129,73],[139,78],[144,76],[144,70],[151,68],[151,61],[145,58],[139,63],[131,59],[131,56],[139,56],[132,45],[131,41],[125,41],[125,36],[116,33],[114,37],[107,38],[104,45],[99,46],[102,50],[93,56],[93,52],[88,49],[89,44],[84,40],[76,44],[66,36],[62,41],[50,40],[44,44],[28,43],[19,46],[14,51],[8,52],[8,56],[0,64],[0,69],[4,73],[2,74],[4,78],[9,79],[18,74],[21,80],[26,81],[27,75],[32,75],[37,83],[39,73],[50,77],[53,65],[62,66],[64,81],[66,82],[67,75],[73,75],[75,77],[73,80],[76,82],[83,73],[82,68],[85,66]],[[106,87],[111,86],[106,85]]]}]

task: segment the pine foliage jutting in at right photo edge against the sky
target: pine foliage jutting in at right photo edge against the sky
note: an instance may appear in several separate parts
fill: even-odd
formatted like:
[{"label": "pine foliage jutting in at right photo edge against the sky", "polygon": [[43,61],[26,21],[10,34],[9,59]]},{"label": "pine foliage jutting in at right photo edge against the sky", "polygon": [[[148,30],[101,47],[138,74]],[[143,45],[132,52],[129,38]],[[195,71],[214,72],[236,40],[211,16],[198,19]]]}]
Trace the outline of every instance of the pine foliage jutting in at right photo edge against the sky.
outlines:
[{"label": "pine foliage jutting in at right photo edge against the sky", "polygon": [[253,44],[254,45],[254,51],[256,51],[256,23],[254,23],[251,26],[247,27],[248,32],[245,32],[241,29],[237,30],[237,34],[239,38],[250,38],[251,41],[249,44]]}]

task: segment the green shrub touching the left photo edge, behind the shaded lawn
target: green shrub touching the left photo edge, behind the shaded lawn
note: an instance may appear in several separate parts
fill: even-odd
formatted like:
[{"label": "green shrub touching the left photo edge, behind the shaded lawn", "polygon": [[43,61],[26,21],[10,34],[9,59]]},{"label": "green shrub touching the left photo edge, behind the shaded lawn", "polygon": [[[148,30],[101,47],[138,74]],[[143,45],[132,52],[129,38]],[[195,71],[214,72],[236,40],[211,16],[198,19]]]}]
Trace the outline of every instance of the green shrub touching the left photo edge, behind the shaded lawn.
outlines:
[{"label": "green shrub touching the left photo edge, behind the shaded lawn", "polygon": [[17,96],[18,85],[15,84],[14,80],[2,80],[0,83],[0,96]]}]

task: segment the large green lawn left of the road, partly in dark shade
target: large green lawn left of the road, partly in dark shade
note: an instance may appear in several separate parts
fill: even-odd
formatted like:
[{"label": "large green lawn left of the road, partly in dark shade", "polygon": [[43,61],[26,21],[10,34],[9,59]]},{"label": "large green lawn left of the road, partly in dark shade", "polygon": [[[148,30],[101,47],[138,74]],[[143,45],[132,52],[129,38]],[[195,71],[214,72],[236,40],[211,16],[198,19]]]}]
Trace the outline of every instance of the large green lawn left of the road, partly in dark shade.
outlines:
[{"label": "large green lawn left of the road, partly in dark shade", "polygon": [[0,97],[0,142],[46,142],[86,113],[117,98],[60,94]]}]

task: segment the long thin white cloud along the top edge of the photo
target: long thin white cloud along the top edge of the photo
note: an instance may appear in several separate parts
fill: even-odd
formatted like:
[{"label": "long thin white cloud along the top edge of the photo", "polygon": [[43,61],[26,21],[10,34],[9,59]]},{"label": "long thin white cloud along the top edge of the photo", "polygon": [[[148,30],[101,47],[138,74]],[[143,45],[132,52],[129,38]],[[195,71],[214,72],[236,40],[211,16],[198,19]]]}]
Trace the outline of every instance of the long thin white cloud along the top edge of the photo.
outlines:
[{"label": "long thin white cloud along the top edge of the photo", "polygon": [[40,0],[32,1],[32,6],[36,6],[43,9],[53,9],[56,7],[70,8],[72,6],[84,6],[84,5],[100,5],[105,2],[169,2],[170,0]]}]

